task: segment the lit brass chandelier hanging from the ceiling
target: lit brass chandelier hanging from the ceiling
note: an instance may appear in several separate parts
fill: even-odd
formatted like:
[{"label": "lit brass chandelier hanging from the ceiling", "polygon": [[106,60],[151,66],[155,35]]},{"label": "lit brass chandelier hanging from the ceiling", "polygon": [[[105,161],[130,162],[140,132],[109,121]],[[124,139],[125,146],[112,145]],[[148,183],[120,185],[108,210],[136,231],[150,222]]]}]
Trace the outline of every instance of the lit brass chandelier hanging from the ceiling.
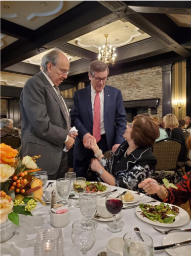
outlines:
[{"label": "lit brass chandelier hanging from the ceiling", "polygon": [[107,65],[109,65],[110,63],[112,65],[114,65],[114,62],[116,62],[116,53],[115,50],[116,48],[112,48],[112,46],[110,45],[109,48],[107,47],[107,37],[108,34],[103,35],[106,39],[105,44],[103,45],[102,49],[101,47],[99,47],[99,54],[98,54],[98,59],[102,60],[103,62],[105,62]]}]

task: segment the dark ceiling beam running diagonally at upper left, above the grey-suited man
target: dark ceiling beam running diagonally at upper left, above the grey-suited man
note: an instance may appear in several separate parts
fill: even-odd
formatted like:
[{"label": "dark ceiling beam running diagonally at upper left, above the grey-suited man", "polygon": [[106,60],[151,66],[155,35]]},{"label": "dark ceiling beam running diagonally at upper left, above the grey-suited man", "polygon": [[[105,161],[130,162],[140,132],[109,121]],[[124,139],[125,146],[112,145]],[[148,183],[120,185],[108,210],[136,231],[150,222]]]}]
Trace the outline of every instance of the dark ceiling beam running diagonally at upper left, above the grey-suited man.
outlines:
[{"label": "dark ceiling beam running diagonally at upper left, above the grey-suited man", "polygon": [[[9,52],[6,49],[7,47],[2,49],[0,52],[0,70],[35,55],[33,51],[36,48],[40,48],[52,41],[54,42],[58,38],[62,40],[61,43],[65,43],[77,35],[84,35],[89,31],[110,23],[111,20],[116,20],[120,16],[119,14],[109,16],[109,14],[111,14],[111,11],[104,8],[97,1],[82,2],[77,8],[68,10],[51,22],[36,29],[34,41],[22,44],[17,48],[12,44]],[[63,37],[65,41],[63,41]]]}]

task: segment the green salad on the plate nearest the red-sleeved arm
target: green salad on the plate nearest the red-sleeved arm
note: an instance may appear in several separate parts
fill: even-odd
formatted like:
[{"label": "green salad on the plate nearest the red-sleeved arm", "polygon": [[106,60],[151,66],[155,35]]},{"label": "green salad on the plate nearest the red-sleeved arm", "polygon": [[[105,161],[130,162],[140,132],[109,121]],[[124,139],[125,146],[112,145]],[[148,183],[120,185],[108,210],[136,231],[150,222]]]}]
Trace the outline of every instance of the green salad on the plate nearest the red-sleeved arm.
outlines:
[{"label": "green salad on the plate nearest the red-sleeved arm", "polygon": [[161,223],[172,223],[179,213],[178,207],[169,206],[169,204],[165,203],[160,205],[140,204],[139,208],[142,210],[143,217]]}]

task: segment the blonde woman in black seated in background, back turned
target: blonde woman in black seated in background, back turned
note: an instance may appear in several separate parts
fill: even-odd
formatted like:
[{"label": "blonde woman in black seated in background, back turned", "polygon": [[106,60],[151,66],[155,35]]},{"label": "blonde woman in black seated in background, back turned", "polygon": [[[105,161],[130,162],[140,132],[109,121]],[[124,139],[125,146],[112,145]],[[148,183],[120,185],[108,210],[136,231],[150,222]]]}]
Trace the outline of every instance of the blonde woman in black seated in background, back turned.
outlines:
[{"label": "blonde woman in black seated in background, back turned", "polygon": [[179,123],[175,115],[167,114],[164,117],[165,126],[167,128],[167,134],[169,138],[179,141],[182,144],[180,149],[180,154],[178,157],[178,162],[185,161],[186,154],[186,145],[185,145],[185,137],[183,135],[182,129],[178,127]]}]

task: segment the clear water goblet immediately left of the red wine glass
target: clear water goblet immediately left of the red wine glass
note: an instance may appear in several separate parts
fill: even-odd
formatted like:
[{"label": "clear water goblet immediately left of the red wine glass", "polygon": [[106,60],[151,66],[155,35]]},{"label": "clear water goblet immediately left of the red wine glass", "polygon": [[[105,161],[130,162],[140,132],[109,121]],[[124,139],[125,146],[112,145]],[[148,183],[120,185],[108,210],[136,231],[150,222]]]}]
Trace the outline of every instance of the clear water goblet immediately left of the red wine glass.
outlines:
[{"label": "clear water goblet immediately left of the red wine glass", "polygon": [[[83,216],[87,219],[85,229],[89,229],[91,227],[90,220],[94,216],[97,208],[97,195],[93,191],[84,191],[79,196],[79,205],[80,211]],[[95,228],[97,228],[97,223],[95,224]]]}]

